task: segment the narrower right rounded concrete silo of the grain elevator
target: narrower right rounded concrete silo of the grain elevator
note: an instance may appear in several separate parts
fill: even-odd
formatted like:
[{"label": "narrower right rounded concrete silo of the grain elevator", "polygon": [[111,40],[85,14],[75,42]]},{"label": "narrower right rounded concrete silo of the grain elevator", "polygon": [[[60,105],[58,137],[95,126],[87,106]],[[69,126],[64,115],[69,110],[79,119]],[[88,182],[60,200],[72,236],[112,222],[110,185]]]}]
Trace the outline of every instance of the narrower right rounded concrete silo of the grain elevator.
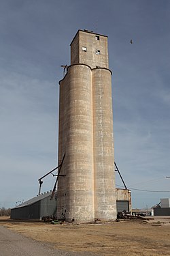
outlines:
[{"label": "narrower right rounded concrete silo of the grain elevator", "polygon": [[95,218],[116,219],[111,72],[92,70]]}]

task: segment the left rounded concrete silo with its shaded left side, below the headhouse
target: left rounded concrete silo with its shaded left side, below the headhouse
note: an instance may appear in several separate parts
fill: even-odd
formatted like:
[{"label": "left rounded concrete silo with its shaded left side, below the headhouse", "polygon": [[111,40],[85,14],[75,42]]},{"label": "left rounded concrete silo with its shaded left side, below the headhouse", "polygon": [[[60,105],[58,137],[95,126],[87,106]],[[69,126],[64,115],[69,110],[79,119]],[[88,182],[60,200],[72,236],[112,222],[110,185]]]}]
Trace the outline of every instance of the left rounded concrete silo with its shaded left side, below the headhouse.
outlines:
[{"label": "left rounded concrete silo with its shaded left side, below the headhouse", "polygon": [[[60,124],[63,138],[59,156],[65,152],[58,179],[57,216],[66,221],[94,220],[93,135],[92,135],[92,71],[82,64],[69,66],[60,83]],[[62,152],[62,154],[61,154]],[[62,180],[62,182],[61,182]],[[59,198],[58,198],[59,199]]]}]

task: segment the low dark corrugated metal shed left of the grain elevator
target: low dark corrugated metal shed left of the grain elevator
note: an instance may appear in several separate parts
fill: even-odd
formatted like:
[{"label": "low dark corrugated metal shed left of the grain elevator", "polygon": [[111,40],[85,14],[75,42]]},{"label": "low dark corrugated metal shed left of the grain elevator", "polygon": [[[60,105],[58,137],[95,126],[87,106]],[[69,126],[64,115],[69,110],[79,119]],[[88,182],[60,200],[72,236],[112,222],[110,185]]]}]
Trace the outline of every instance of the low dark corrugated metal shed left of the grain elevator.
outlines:
[{"label": "low dark corrugated metal shed left of the grain elevator", "polygon": [[44,193],[17,205],[11,209],[11,218],[41,219],[43,216],[56,215],[56,193],[52,200],[52,192]]}]

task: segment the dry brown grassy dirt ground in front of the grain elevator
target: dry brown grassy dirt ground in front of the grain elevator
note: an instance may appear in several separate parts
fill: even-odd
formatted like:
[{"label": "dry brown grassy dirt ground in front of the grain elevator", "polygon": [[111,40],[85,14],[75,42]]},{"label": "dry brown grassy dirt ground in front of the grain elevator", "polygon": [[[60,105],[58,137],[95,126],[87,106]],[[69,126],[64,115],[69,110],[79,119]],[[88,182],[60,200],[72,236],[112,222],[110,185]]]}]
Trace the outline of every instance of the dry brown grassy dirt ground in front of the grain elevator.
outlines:
[{"label": "dry brown grassy dirt ground in front of the grain elevator", "polygon": [[1,219],[0,225],[65,251],[101,256],[170,255],[170,216],[88,225]]}]

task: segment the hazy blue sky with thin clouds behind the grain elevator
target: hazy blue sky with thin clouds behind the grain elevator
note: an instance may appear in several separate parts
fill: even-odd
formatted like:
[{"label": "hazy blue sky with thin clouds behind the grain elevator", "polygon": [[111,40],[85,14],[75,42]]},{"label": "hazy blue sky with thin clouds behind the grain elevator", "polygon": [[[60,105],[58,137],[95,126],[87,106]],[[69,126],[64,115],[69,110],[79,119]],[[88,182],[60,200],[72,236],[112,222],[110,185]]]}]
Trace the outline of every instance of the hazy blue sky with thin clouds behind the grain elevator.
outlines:
[{"label": "hazy blue sky with thin clouds behind the grain elevator", "polygon": [[108,35],[115,160],[139,189],[133,208],[170,197],[140,191],[170,191],[170,1],[1,0],[0,208],[36,196],[57,166],[58,81],[78,29]]}]

